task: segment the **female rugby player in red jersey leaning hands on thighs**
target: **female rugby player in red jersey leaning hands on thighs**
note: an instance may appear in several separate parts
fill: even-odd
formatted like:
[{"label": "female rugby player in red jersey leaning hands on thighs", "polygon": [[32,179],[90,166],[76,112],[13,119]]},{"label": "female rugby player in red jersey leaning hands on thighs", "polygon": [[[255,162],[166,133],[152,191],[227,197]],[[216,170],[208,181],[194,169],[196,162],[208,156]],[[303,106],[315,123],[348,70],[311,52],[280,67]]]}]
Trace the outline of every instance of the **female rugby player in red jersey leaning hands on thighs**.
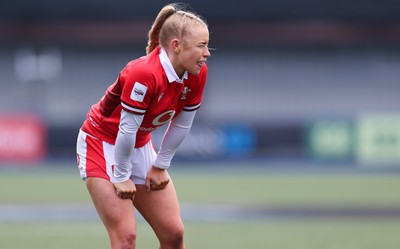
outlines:
[{"label": "female rugby player in red jersey leaning hands on thighs", "polygon": [[[177,4],[161,9],[147,55],[129,62],[93,105],[77,141],[78,167],[111,248],[135,248],[137,209],[160,248],[185,248],[168,167],[188,134],[206,83],[209,32]],[[151,132],[169,124],[158,153]]]}]

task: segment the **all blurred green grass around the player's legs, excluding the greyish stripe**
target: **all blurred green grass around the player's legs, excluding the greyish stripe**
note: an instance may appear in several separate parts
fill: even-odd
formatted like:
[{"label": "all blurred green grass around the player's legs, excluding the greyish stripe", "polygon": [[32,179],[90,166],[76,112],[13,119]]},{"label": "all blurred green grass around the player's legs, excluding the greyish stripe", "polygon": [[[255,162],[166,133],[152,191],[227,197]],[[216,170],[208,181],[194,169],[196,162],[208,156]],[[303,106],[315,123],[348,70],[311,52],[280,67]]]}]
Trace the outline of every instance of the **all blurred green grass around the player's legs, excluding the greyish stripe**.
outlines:
[{"label": "all blurred green grass around the player's legs, excluding the greyish stripe", "polygon": [[[400,208],[400,174],[276,171],[260,168],[171,169],[180,201],[192,204]],[[76,168],[0,168],[1,204],[90,203]],[[262,218],[184,221],[186,245],[203,248],[398,249],[400,218]],[[138,222],[137,248],[158,248]],[[0,248],[109,248],[99,221],[0,223]]]}]

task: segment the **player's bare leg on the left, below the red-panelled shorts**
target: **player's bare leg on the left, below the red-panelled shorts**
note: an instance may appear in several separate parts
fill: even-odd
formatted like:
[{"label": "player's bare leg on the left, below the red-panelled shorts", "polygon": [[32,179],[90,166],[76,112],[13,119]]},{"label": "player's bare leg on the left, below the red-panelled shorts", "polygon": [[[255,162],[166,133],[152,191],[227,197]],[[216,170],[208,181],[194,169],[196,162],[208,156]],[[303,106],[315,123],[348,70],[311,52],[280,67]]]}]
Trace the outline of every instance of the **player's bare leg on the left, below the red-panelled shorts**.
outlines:
[{"label": "player's bare leg on the left, below the red-panelled shorts", "polygon": [[86,186],[107,229],[111,248],[134,249],[136,220],[132,201],[119,198],[114,185],[102,178],[88,178]]}]

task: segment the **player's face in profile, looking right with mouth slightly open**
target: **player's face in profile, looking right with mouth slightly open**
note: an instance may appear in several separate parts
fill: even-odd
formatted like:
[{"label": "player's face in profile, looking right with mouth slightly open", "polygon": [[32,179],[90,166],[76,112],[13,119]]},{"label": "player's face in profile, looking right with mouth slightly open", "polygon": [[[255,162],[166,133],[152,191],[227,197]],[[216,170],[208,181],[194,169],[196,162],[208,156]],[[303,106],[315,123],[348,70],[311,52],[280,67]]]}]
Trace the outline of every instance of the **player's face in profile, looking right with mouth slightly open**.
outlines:
[{"label": "player's face in profile, looking right with mouth slightly open", "polygon": [[190,34],[185,36],[181,51],[178,55],[179,62],[184,71],[190,74],[199,74],[201,67],[211,56],[208,50],[209,34],[204,25],[195,25]]}]

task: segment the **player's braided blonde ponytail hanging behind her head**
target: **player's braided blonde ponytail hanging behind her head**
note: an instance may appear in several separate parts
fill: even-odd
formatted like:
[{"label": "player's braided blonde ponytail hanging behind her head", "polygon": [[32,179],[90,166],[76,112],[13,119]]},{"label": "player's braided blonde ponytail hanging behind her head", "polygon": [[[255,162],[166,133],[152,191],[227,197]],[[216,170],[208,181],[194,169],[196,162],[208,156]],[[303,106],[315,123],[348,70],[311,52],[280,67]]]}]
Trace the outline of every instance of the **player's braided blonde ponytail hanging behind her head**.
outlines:
[{"label": "player's braided blonde ponytail hanging behind her head", "polygon": [[169,4],[164,6],[164,8],[162,8],[161,11],[158,13],[156,20],[154,21],[149,31],[149,40],[146,47],[147,54],[151,53],[159,45],[159,35],[161,27],[165,23],[165,20],[168,19],[168,17],[176,13],[176,7],[177,4]]}]

